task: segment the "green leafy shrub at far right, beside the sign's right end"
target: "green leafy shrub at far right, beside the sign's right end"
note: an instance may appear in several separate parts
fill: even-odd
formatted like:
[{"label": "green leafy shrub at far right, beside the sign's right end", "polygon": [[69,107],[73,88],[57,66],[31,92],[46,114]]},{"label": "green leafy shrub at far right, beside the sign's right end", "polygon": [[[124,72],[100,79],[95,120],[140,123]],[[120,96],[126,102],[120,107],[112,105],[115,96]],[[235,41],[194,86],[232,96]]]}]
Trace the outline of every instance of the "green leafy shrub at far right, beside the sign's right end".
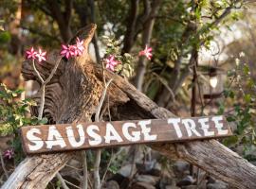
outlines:
[{"label": "green leafy shrub at far right, beside the sign's right end", "polygon": [[245,150],[256,145],[256,82],[253,79],[247,63],[236,60],[235,69],[229,71],[229,88],[224,91],[225,101],[219,113],[225,113],[225,107],[231,99],[232,110],[228,121],[235,124],[237,135],[224,140],[227,146],[243,144]]}]

